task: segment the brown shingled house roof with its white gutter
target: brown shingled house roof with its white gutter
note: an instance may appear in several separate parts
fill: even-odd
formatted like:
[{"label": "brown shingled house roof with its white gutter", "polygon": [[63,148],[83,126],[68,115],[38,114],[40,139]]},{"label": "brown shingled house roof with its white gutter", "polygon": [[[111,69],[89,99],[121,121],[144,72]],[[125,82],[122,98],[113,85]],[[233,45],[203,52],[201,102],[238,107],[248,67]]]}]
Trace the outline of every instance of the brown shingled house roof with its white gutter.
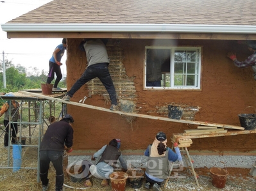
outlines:
[{"label": "brown shingled house roof with its white gutter", "polygon": [[6,32],[256,34],[252,0],[54,0],[1,24]]}]

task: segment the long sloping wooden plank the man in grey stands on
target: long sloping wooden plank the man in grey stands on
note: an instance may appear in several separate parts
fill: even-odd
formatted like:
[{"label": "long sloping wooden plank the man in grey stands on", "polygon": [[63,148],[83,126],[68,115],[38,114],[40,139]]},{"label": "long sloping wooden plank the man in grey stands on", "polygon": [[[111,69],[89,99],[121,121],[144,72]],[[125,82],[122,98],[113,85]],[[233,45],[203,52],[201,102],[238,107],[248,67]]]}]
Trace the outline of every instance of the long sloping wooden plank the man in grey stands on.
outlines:
[{"label": "long sloping wooden plank the man in grey stands on", "polygon": [[62,103],[67,103],[70,105],[76,105],[80,107],[86,107],[89,109],[96,109],[99,111],[105,111],[105,112],[112,112],[115,114],[121,114],[121,115],[126,115],[126,116],[134,116],[138,118],[148,118],[148,119],[156,119],[156,120],[161,120],[161,121],[171,121],[171,122],[176,122],[176,123],[187,123],[187,124],[192,124],[192,125],[203,125],[203,126],[217,126],[221,128],[229,128],[229,129],[235,129],[235,130],[244,130],[243,127],[241,126],[235,126],[235,125],[225,125],[225,124],[220,124],[220,123],[208,123],[208,122],[202,122],[202,121],[191,121],[191,120],[184,120],[184,119],[170,119],[170,118],[164,118],[164,117],[158,117],[158,116],[149,116],[145,114],[137,114],[137,113],[128,113],[128,112],[122,112],[122,111],[111,111],[110,109],[103,108],[103,107],[97,107],[93,105],[87,105],[84,103],[77,103],[77,102],[66,102],[60,98],[53,98],[48,95],[42,95],[39,93],[31,93],[28,91],[19,91],[19,93],[25,94],[25,95],[30,95],[30,96],[36,96],[38,98],[45,98],[47,100],[54,100],[56,102],[62,102]]}]

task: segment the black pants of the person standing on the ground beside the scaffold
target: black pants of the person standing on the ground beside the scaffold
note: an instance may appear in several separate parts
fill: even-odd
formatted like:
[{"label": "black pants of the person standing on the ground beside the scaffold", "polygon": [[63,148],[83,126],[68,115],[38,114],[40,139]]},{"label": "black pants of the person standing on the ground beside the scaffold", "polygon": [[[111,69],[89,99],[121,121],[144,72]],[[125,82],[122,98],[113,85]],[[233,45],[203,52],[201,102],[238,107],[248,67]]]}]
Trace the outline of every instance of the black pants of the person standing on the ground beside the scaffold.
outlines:
[{"label": "black pants of the person standing on the ground beside the scaffold", "polygon": [[63,172],[63,151],[40,151],[40,180],[42,185],[49,183],[48,170],[50,162],[53,163],[56,171],[55,190],[62,190],[64,184],[64,172]]}]

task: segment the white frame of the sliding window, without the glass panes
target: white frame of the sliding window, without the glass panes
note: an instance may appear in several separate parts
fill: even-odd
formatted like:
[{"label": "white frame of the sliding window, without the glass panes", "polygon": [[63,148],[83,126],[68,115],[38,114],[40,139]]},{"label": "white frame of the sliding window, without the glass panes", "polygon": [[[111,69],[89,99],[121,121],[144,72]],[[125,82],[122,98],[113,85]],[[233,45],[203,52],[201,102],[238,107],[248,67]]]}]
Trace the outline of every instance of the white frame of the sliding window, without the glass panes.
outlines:
[{"label": "white frame of the sliding window, without the glass panes", "polygon": [[[151,86],[146,86],[146,52],[147,49],[170,49],[170,86],[169,87],[151,87]],[[195,78],[195,86],[174,86],[174,81],[175,81],[175,50],[196,50],[198,51],[198,66],[196,68],[196,74],[195,77],[198,76],[198,78]],[[161,47],[161,46],[146,46],[145,47],[145,59],[144,59],[144,89],[146,90],[201,90],[201,47]],[[184,75],[187,75],[185,73]]]}]

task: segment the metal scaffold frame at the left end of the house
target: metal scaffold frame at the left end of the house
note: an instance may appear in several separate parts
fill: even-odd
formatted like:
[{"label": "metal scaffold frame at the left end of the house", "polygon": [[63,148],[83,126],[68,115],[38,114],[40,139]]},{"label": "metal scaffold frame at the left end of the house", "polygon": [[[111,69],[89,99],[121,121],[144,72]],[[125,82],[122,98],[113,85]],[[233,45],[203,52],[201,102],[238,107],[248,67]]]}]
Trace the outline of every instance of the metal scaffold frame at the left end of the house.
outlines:
[{"label": "metal scaffold frame at the left end of the house", "polygon": [[[20,118],[19,121],[12,121],[12,116],[10,114],[10,110],[8,109],[9,112],[9,121],[10,123],[9,128],[8,128],[8,141],[10,143],[12,137],[11,137],[11,125],[17,123],[18,126],[18,132],[16,133],[17,138],[17,144],[22,144],[22,138],[25,138],[29,144],[22,144],[23,147],[35,147],[37,148],[37,167],[23,167],[21,165],[21,169],[37,169],[37,182],[40,181],[40,164],[39,164],[39,149],[40,149],[40,142],[42,139],[42,136],[44,135],[44,127],[49,126],[53,121],[51,121],[51,117],[55,116],[55,101],[52,100],[47,100],[45,98],[36,98],[32,96],[0,96],[0,100],[15,100],[19,101],[19,108],[17,111],[20,111]],[[46,106],[49,105],[49,118],[47,118],[45,114],[45,109]],[[0,106],[1,107],[1,106]],[[62,112],[58,116],[58,118],[61,117],[62,113],[64,112],[63,110],[64,106],[62,104]],[[23,117],[23,111],[25,109],[28,109],[28,120],[24,120]],[[52,115],[53,114],[53,115]],[[50,119],[48,121],[48,119]],[[48,122],[47,122],[48,121]],[[22,125],[27,125],[28,126],[28,136],[22,136]],[[35,132],[35,129],[38,128],[38,136],[33,136],[33,133]],[[2,132],[0,134],[0,137],[3,136],[6,131],[5,131],[5,126],[1,128]],[[31,145],[31,139],[38,139],[38,144],[36,145]],[[7,151],[7,165],[0,165],[1,169],[13,169],[13,164],[11,162],[12,157],[11,157],[11,150],[12,150],[13,144],[9,144],[8,146],[8,151]],[[22,158],[21,158],[22,160]]]}]

